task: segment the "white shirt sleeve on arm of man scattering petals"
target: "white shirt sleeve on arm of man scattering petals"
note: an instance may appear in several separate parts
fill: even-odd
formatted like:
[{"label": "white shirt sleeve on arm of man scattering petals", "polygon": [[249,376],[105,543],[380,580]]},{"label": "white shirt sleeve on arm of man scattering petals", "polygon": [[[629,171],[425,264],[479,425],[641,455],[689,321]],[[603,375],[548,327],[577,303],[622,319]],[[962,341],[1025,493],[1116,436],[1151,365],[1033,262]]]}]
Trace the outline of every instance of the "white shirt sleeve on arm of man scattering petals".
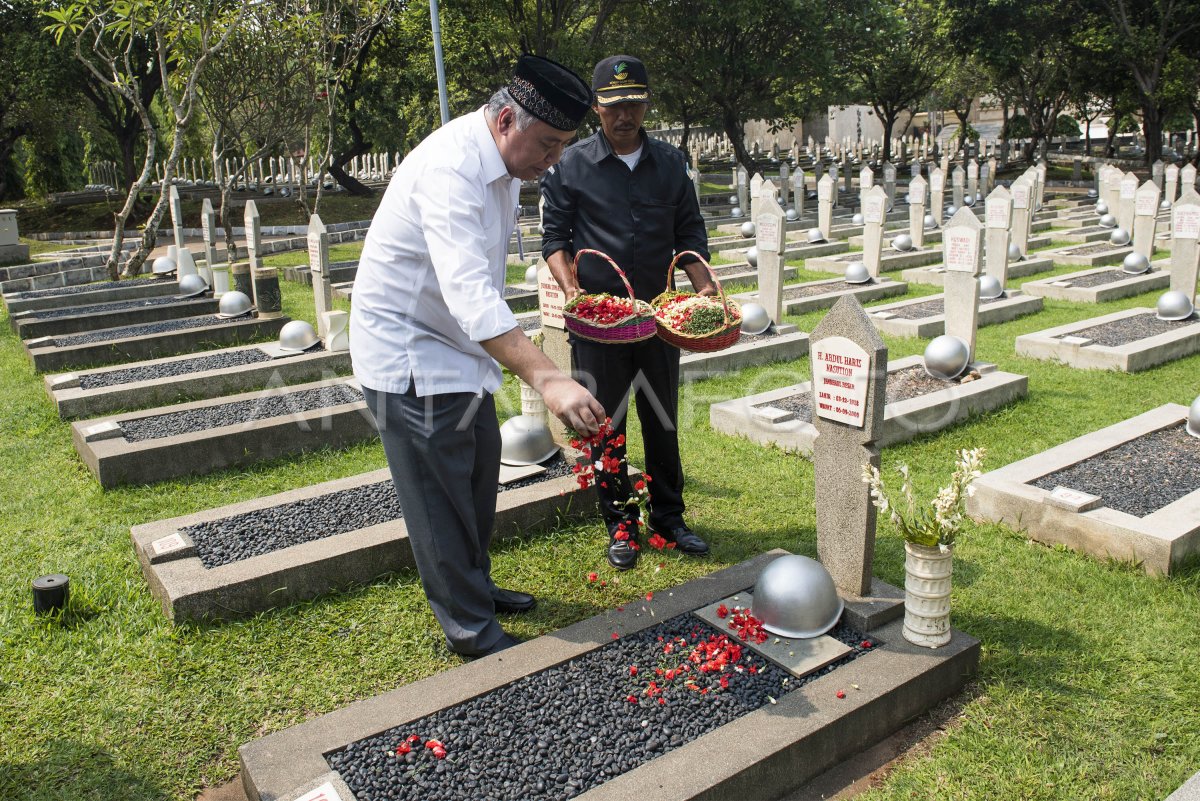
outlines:
[{"label": "white shirt sleeve on arm of man scattering petals", "polygon": [[[450,168],[431,170],[419,186],[414,201],[450,315],[473,342],[517,327],[488,261],[487,188]],[[497,224],[508,221],[500,213]]]}]

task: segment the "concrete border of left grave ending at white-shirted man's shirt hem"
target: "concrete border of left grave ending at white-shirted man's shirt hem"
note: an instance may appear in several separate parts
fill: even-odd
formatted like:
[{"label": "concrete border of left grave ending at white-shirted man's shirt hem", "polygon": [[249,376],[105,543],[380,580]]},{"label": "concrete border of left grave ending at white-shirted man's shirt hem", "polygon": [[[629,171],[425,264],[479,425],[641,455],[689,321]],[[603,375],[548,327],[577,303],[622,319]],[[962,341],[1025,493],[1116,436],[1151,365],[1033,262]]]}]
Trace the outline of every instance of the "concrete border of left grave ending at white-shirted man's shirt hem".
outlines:
[{"label": "concrete border of left grave ending at white-shirted man's shirt hem", "polygon": [[[84,390],[79,386],[79,379],[83,375],[112,373],[133,367],[169,365],[170,362],[197,359],[199,356],[215,356],[222,353],[251,349],[263,350],[268,355],[272,355],[272,353],[280,355],[266,362],[239,365],[236,367],[209,369],[184,375],[170,375],[145,381],[131,381],[128,384],[102,386],[94,390]],[[43,384],[47,395],[50,396],[50,401],[54,402],[59,411],[59,417],[70,420],[74,417],[92,417],[118,411],[119,409],[168,405],[179,403],[185,398],[200,401],[270,386],[318,381],[349,372],[350,351],[348,350],[338,353],[316,350],[312,353],[283,354],[277,343],[268,342],[260,345],[206,350],[198,354],[182,354],[145,362],[114,365],[101,369],[80,371],[78,373],[46,375]]]}]

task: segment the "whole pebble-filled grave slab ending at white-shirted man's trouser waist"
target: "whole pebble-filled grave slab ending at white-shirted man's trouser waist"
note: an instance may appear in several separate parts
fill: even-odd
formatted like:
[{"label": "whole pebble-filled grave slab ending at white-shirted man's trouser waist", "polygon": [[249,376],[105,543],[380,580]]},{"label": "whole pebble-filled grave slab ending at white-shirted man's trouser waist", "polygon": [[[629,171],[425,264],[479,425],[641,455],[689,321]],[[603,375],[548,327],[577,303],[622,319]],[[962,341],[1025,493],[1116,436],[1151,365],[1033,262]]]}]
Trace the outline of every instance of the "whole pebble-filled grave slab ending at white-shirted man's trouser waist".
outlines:
[{"label": "whole pebble-filled grave slab ending at white-shirted man's trouser waist", "polygon": [[[306,408],[311,404],[305,401],[314,396],[328,396],[332,403]],[[180,415],[218,421],[227,415],[233,417],[228,404],[271,416],[199,429],[184,424],[180,433],[163,435],[174,430],[162,428],[167,421],[178,421]],[[134,429],[142,433],[134,436],[131,434]],[[106,489],[198,476],[323,447],[344,447],[376,435],[354,379],[245,392],[71,424],[76,451]]]}]

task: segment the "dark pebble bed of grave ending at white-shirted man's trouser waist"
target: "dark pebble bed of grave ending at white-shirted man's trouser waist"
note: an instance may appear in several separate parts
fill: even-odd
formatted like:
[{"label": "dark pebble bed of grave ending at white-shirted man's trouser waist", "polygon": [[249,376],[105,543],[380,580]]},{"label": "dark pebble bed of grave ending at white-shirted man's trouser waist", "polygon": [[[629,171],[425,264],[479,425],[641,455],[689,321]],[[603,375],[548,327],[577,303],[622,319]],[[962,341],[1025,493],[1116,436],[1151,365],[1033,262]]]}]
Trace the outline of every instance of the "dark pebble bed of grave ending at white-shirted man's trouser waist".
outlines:
[{"label": "dark pebble bed of grave ending at white-shirted man's trouser waist", "polygon": [[254,420],[295,415],[343,403],[355,403],[361,399],[362,393],[353,386],[332,384],[299,392],[271,395],[254,401],[234,401],[216,406],[170,411],[154,417],[122,420],[121,430],[125,433],[126,441],[140,442],[222,426],[248,423]]}]

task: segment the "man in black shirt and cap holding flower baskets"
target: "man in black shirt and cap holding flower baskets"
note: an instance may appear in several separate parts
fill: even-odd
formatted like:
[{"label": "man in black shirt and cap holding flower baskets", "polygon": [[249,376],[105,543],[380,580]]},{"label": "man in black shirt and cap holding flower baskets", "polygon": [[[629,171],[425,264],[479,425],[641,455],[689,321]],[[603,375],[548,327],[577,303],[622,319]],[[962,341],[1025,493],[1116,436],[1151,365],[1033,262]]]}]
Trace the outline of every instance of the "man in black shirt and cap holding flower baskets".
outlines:
[{"label": "man in black shirt and cap holding flower baskets", "polygon": [[[667,284],[667,266],[676,253],[696,251],[708,259],[708,234],[683,155],[650,139],[642,128],[649,103],[644,65],[616,55],[596,65],[592,77],[593,109],[601,131],[572,145],[541,179],[542,257],[565,300],[581,293],[628,293],[612,266],[584,255],[578,275],[575,253],[593,248],[607,253],[625,271],[634,294],[652,300]],[[703,265],[686,259],[692,287],[712,295],[715,287]],[[630,344],[596,343],[571,336],[575,369],[595,381],[594,395],[613,420],[613,438],[625,433],[631,391],[637,397],[650,477],[649,528],[685,554],[704,555],[708,544],[684,523],[683,466],[679,462],[677,417],[679,350],[654,337]],[[602,444],[600,450],[611,446]],[[624,458],[625,447],[612,446]],[[595,456],[599,456],[595,454]],[[600,510],[608,529],[608,562],[620,570],[637,564],[638,519],[625,475],[596,482]],[[623,538],[622,529],[630,536]]]}]

